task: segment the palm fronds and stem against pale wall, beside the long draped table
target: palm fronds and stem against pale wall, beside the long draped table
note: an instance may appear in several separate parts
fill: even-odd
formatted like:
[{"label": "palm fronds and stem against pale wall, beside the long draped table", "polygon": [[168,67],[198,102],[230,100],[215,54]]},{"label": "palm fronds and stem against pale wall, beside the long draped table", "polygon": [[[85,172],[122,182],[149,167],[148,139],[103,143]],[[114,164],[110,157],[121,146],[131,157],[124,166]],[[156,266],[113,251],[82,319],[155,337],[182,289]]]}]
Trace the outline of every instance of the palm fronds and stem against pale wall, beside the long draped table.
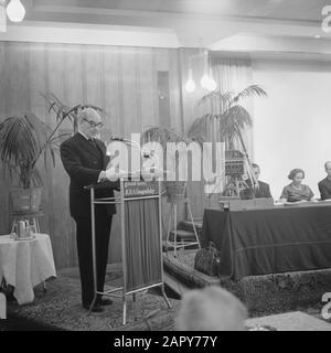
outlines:
[{"label": "palm fronds and stem against pale wall, beside the long draped table", "polygon": [[[225,143],[225,156],[233,156],[235,141],[238,141],[247,164],[247,174],[252,185],[257,183],[252,172],[252,163],[243,139],[243,129],[253,126],[253,118],[248,110],[241,104],[250,97],[267,96],[258,85],[250,85],[239,93],[213,90],[203,96],[199,105],[207,111],[195,119],[189,130],[189,137],[203,142],[209,140],[209,132],[218,129],[221,142]],[[226,163],[226,159],[225,159]]]}]

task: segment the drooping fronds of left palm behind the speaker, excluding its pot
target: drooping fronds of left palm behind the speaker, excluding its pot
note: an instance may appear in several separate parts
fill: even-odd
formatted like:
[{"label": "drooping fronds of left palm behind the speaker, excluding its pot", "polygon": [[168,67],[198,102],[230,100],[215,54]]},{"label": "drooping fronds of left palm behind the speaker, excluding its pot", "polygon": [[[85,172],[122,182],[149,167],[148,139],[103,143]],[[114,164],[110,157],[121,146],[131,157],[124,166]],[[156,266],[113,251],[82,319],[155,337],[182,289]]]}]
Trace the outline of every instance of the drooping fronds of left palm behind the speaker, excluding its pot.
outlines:
[{"label": "drooping fronds of left palm behind the speaker, excluding its pot", "polygon": [[71,120],[73,130],[77,129],[78,109],[92,107],[103,111],[93,105],[76,105],[68,107],[54,94],[42,94],[47,101],[49,113],[55,114],[55,127],[50,127],[33,114],[20,117],[10,117],[0,124],[0,160],[4,174],[14,172],[23,188],[31,184],[41,185],[42,180],[35,168],[40,157],[44,156],[44,164],[47,165],[47,156],[51,156],[55,165],[55,153],[58,152],[60,142],[71,133],[58,133],[58,128],[65,120]]}]

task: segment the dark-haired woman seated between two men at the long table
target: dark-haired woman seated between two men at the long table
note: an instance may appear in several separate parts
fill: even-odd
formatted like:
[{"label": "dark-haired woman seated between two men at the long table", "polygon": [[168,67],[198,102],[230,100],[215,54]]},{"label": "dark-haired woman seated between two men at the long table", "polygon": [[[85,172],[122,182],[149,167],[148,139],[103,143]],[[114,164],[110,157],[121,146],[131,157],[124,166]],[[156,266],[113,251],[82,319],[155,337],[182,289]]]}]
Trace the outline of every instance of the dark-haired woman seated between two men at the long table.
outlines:
[{"label": "dark-haired woman seated between two men at the long table", "polygon": [[309,201],[313,193],[308,185],[302,184],[305,172],[302,169],[293,169],[290,171],[288,179],[292,182],[282,189],[280,196],[281,202]]}]

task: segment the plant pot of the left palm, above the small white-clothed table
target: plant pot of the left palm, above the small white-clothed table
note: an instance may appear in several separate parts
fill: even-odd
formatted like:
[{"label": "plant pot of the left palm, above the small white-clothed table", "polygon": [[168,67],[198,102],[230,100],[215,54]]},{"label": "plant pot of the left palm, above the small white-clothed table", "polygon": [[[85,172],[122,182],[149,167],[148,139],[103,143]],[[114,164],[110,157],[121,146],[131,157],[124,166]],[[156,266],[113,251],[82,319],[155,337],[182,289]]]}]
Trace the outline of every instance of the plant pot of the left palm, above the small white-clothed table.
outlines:
[{"label": "plant pot of the left palm, above the small white-clothed table", "polygon": [[42,188],[17,188],[9,192],[11,212],[31,213],[41,210]]}]

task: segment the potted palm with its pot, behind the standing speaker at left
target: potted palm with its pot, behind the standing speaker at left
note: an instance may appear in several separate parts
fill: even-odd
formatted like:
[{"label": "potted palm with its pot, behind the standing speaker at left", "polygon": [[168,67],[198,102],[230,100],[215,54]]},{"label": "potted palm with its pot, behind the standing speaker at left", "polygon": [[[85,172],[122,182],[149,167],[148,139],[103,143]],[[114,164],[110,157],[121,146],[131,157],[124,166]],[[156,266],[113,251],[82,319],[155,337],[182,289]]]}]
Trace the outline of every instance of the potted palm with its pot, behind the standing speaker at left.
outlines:
[{"label": "potted palm with its pot, behind the standing speaker at left", "polygon": [[[56,109],[57,107],[57,109]],[[77,111],[74,108],[51,105],[56,110],[56,126],[52,129],[34,114],[23,114],[4,119],[0,124],[0,161],[4,176],[18,180],[17,188],[10,191],[12,211],[31,213],[40,210],[42,196],[42,179],[38,170],[38,161],[43,156],[44,165],[51,157],[55,164],[55,152],[63,136],[57,133],[62,122]]]}]

